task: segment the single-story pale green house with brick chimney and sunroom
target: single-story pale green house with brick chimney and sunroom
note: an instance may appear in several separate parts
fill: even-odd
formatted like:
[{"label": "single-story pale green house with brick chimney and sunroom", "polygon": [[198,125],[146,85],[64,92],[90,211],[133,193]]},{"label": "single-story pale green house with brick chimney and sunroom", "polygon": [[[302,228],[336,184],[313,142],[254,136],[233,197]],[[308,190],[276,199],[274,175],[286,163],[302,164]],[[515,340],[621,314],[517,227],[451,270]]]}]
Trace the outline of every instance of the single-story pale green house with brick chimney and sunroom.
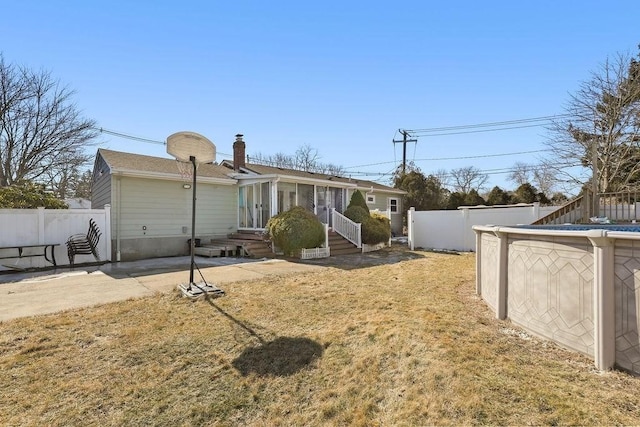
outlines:
[{"label": "single-story pale green house with brick chimney and sunroom", "polygon": [[[331,210],[343,212],[360,190],[371,210],[389,212],[402,232],[404,191],[372,181],[246,162],[236,135],[233,161],[197,170],[195,235],[216,239],[236,231],[261,231],[272,216],[304,206],[331,227]],[[92,208],[111,205],[112,259],[184,255],[191,238],[192,192],[176,160],[99,149],[93,169]]]}]

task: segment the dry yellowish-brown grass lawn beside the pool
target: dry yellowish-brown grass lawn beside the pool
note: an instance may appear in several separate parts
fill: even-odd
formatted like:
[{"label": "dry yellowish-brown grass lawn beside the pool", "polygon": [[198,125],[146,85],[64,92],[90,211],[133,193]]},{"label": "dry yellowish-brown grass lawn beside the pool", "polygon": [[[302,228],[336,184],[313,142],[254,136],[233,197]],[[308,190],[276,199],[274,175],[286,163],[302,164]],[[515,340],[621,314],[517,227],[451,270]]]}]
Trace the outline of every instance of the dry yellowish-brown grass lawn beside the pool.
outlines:
[{"label": "dry yellowish-brown grass lawn beside the pool", "polygon": [[495,320],[473,255],[406,256],[2,323],[0,422],[640,424],[640,379]]}]

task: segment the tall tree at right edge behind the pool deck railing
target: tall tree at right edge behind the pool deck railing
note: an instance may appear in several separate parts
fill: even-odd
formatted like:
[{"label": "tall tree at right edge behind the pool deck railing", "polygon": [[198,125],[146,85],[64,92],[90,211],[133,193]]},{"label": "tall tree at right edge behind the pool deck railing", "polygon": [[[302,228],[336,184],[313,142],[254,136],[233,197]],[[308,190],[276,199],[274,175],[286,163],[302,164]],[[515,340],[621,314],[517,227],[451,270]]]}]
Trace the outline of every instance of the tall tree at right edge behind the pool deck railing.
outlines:
[{"label": "tall tree at right edge behind the pool deck railing", "polygon": [[585,183],[590,171],[579,175],[571,167],[595,170],[600,192],[640,186],[640,63],[619,54],[570,96],[566,114],[551,128],[548,146],[553,162],[567,180]]}]

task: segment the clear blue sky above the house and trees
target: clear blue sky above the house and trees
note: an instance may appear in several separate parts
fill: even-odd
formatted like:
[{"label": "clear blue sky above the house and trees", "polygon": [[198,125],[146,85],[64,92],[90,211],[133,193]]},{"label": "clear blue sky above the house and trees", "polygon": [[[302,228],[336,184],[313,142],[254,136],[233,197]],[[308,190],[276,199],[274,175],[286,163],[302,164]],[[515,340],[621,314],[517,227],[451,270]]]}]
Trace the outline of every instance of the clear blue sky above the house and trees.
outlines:
[{"label": "clear blue sky above the house and trees", "polygon": [[[379,180],[402,160],[398,129],[562,114],[607,57],[637,53],[637,1],[5,2],[5,61],[51,71],[100,127],[164,141],[190,130],[230,158],[302,145]],[[542,127],[420,137],[426,174],[475,166],[489,187],[537,154]],[[168,156],[102,134],[99,147]],[[92,151],[95,148],[91,149]],[[467,157],[452,160],[435,160]],[[373,166],[363,166],[373,165]]]}]

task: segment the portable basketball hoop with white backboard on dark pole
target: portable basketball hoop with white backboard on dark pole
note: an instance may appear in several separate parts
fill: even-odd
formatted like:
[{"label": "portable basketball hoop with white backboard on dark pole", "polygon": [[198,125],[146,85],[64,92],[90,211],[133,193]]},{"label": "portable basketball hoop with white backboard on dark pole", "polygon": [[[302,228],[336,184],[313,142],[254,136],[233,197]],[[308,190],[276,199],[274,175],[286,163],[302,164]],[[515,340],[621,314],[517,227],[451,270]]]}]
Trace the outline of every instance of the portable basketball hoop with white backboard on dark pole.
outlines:
[{"label": "portable basketball hoop with white backboard on dark pole", "polygon": [[[191,269],[189,271],[189,284],[179,285],[183,295],[190,298],[198,298],[202,295],[224,295],[224,291],[212,287],[208,283],[195,284],[193,282],[193,268],[195,265],[195,241],[196,241],[196,183],[197,169],[200,163],[211,163],[216,159],[216,146],[204,136],[195,132],[177,132],[167,138],[167,153],[176,159],[180,177],[185,182],[191,183],[192,209],[191,209]],[[187,187],[185,187],[187,188]],[[203,277],[204,280],[204,277]]]}]

